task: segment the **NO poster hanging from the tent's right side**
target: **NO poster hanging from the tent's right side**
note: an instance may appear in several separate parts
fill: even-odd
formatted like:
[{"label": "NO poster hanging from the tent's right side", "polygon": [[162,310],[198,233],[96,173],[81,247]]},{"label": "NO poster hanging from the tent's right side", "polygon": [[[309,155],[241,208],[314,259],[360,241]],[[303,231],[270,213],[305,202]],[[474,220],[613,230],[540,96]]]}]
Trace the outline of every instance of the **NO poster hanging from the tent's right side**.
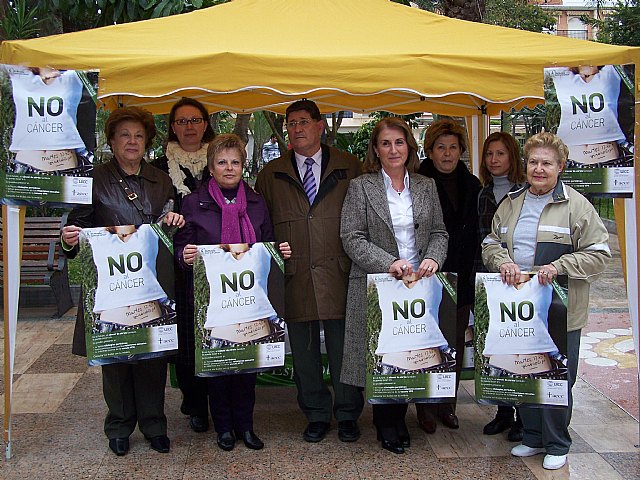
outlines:
[{"label": "NO poster hanging from the tent's right side", "polygon": [[569,148],[562,174],[585,194],[631,197],[634,65],[544,69],[546,128]]}]

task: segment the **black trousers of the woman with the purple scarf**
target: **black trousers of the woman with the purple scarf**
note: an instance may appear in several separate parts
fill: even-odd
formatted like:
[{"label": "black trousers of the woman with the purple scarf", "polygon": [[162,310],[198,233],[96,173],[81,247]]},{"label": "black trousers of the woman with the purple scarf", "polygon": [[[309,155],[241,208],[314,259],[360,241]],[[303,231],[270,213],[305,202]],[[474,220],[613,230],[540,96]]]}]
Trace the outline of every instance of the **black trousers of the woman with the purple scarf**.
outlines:
[{"label": "black trousers of the woman with the purple scarf", "polygon": [[209,377],[209,407],[217,433],[253,430],[255,373]]}]

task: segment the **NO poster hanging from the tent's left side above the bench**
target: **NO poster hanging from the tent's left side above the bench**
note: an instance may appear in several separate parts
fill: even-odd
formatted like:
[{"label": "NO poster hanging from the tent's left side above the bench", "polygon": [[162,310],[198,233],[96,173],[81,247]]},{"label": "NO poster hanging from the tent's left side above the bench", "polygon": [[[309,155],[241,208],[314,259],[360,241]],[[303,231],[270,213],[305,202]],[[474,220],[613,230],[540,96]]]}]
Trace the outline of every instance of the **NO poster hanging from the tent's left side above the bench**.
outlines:
[{"label": "NO poster hanging from the tent's left side above the bench", "polygon": [[0,198],[91,203],[98,72],[0,64]]}]

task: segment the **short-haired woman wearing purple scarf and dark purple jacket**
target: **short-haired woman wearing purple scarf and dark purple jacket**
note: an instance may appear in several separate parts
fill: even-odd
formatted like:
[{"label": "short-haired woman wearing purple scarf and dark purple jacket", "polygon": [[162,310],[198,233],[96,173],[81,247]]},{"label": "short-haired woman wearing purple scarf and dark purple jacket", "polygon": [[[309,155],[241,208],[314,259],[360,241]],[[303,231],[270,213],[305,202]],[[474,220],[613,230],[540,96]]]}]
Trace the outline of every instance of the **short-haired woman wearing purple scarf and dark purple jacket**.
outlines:
[{"label": "short-haired woman wearing purple scarf and dark purple jacket", "polygon": [[[185,269],[192,268],[197,245],[252,244],[273,240],[273,226],[262,196],[242,180],[247,159],[245,145],[233,134],[219,135],[207,150],[211,179],[184,198],[185,227],[174,237],[175,255]],[[283,257],[291,256],[289,244],[279,245]],[[189,286],[193,302],[193,286]],[[251,449],[264,443],[253,432],[255,373],[211,377],[209,407],[222,450],[232,450],[236,439]]]}]

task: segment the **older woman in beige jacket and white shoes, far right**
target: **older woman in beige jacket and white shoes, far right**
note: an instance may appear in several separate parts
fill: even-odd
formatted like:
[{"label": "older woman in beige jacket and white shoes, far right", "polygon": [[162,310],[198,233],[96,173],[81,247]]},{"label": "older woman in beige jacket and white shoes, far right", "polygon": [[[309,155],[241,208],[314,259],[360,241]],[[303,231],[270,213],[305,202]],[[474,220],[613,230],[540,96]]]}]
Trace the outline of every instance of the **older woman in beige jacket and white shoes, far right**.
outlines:
[{"label": "older woman in beige jacket and white shoes, far right", "polygon": [[[558,469],[566,463],[571,446],[571,388],[578,370],[580,331],[587,323],[589,283],[605,269],[611,257],[609,235],[593,206],[565,185],[560,174],[568,148],[559,137],[539,133],[524,147],[528,186],[508,194],[498,207],[491,233],[482,243],[486,267],[500,272],[503,283],[520,283],[521,271],[537,271],[537,281],[551,283],[557,275],[569,277],[567,408],[520,407],[524,427],[522,444],[511,454],[528,457],[546,453],[543,467]],[[553,342],[551,342],[553,343]],[[549,351],[548,345],[542,351]],[[500,353],[500,352],[498,352]],[[501,358],[506,368],[508,358]]]}]

